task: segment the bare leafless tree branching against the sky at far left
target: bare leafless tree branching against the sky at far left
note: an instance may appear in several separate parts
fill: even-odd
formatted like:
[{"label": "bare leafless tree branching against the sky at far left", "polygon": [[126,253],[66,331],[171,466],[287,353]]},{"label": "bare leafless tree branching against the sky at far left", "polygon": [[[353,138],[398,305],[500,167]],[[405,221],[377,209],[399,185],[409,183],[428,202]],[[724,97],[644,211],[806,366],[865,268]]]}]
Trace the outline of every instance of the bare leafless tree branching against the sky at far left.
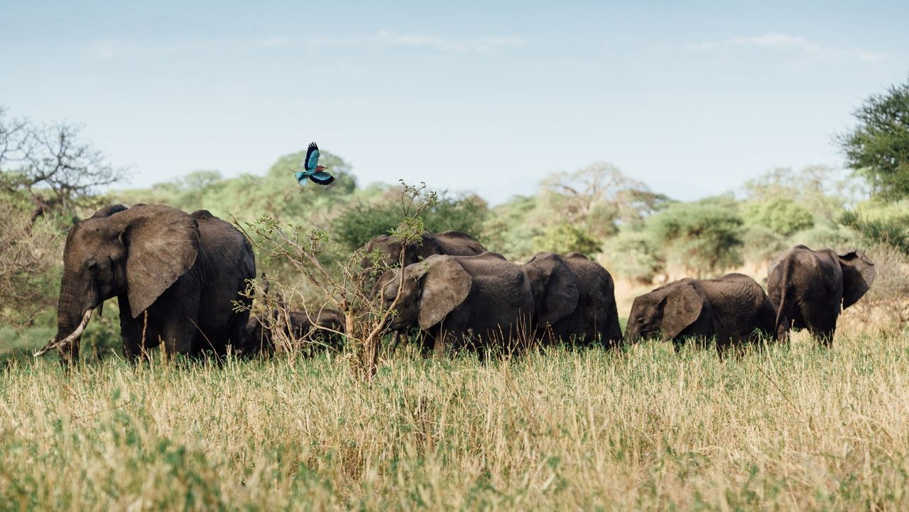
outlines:
[{"label": "bare leafless tree branching against the sky at far left", "polygon": [[84,140],[81,126],[38,125],[9,118],[0,107],[0,189],[25,194],[34,203],[31,222],[51,212],[75,212],[83,203],[95,206],[98,188],[125,174]]}]

